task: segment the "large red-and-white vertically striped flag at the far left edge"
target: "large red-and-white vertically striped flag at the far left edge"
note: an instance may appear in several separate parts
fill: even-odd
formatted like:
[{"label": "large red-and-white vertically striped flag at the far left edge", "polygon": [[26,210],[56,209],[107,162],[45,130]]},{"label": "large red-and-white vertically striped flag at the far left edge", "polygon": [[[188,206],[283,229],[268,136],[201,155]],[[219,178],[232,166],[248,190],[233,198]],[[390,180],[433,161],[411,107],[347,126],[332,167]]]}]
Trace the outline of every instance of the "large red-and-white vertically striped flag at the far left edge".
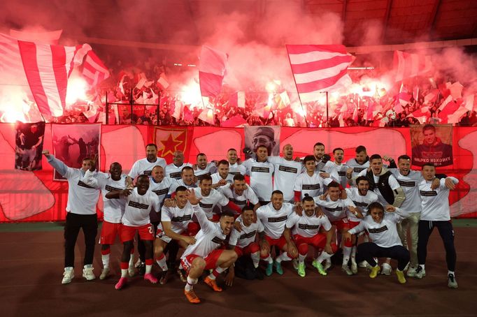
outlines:
[{"label": "large red-and-white vertically striped flag at the far left edge", "polygon": [[0,84],[24,87],[43,115],[59,117],[76,47],[17,40],[0,34]]}]

